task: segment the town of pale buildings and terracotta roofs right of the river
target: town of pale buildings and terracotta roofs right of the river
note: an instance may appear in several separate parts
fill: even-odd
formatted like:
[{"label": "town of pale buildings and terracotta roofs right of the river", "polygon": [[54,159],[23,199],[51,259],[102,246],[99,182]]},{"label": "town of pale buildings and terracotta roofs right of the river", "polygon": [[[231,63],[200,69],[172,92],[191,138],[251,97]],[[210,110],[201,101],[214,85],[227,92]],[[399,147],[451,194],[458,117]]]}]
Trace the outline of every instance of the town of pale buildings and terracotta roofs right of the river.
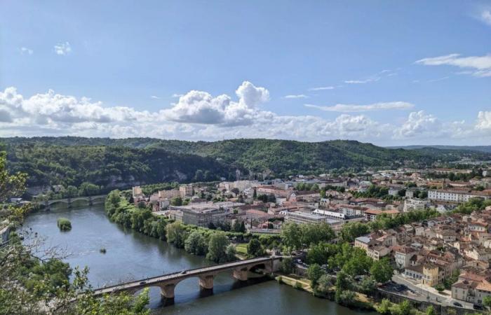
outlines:
[{"label": "town of pale buildings and terracotta roofs right of the river", "polygon": [[[242,227],[257,235],[280,235],[288,223],[327,223],[339,235],[356,223],[433,211],[422,221],[360,235],[352,244],[373,260],[391,261],[392,280],[401,287],[389,283],[384,290],[468,309],[482,309],[491,298],[490,169],[397,169],[264,181],[242,179],[237,171],[236,181],[182,184],[151,195],[135,186],[131,198],[136,206],[185,225]],[[462,207],[473,203],[474,208]],[[487,206],[475,211],[478,204]],[[308,267],[297,260],[299,272]]]}]

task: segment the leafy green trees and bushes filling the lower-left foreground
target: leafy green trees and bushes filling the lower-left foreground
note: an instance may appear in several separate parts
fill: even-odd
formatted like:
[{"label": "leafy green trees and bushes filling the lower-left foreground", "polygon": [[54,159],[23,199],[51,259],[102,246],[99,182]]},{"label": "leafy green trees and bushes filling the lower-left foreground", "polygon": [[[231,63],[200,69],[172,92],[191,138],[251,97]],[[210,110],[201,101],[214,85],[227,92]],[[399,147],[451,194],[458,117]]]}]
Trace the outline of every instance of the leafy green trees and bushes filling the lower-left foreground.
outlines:
[{"label": "leafy green trees and bushes filling the lower-left foreground", "polygon": [[[30,207],[10,204],[8,198],[25,190],[26,179],[26,174],[7,172],[6,153],[0,151],[0,221],[13,229]],[[0,314],[149,314],[147,290],[136,297],[122,293],[95,298],[88,269],[72,269],[63,257],[60,248],[47,247],[29,230],[11,232],[0,246]]]}]

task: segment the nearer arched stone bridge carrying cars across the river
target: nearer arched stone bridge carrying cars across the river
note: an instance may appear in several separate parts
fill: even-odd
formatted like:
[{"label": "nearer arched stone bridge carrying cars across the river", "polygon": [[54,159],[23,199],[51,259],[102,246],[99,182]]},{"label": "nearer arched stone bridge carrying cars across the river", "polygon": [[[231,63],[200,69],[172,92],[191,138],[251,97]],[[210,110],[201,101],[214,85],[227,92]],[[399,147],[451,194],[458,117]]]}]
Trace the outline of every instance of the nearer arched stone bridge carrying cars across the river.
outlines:
[{"label": "nearer arched stone bridge carrying cars across the river", "polygon": [[142,279],[137,281],[130,281],[126,283],[120,283],[115,286],[107,286],[94,291],[95,296],[104,295],[106,293],[116,293],[126,291],[128,293],[135,293],[142,288],[159,287],[161,288],[161,295],[163,304],[173,304],[174,302],[174,288],[180,281],[192,277],[199,279],[199,286],[201,290],[213,291],[213,279],[215,276],[224,271],[233,271],[235,279],[240,281],[248,280],[248,271],[255,267],[263,269],[264,273],[270,274],[276,272],[279,269],[282,257],[261,257],[247,260],[238,260],[234,262],[226,262],[220,265],[213,265],[209,267],[201,267],[196,269],[189,269],[182,272],[174,272],[172,274],[164,274],[162,276],[154,276],[148,279]]}]

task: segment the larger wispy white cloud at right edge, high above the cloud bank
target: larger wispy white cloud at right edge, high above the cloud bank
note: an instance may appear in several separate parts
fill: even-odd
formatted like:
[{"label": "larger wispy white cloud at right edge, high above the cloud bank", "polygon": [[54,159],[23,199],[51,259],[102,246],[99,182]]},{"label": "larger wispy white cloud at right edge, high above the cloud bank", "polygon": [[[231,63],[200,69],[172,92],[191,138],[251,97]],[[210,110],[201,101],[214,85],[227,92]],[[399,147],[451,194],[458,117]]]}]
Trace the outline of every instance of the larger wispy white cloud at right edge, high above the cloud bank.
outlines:
[{"label": "larger wispy white cloud at right edge, high above the cloud bank", "polygon": [[462,69],[471,69],[470,73],[473,76],[491,76],[491,55],[460,57],[459,54],[450,54],[419,59],[415,63],[425,66],[457,66]]}]

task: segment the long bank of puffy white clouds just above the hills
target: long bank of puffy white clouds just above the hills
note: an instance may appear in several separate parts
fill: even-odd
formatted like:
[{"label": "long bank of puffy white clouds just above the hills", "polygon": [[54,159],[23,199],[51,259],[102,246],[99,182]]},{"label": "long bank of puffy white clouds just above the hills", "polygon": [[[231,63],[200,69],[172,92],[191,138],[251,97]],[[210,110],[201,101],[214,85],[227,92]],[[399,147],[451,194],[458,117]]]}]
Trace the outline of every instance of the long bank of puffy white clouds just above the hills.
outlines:
[{"label": "long bank of puffy white clouds just above the hills", "polygon": [[[188,140],[224,137],[301,141],[357,139],[376,143],[398,141],[399,144],[406,139],[419,142],[480,137],[483,142],[491,140],[490,111],[481,111],[476,121],[469,124],[442,122],[424,111],[410,113],[402,123],[396,123],[396,120],[379,122],[363,114],[342,113],[334,119],[284,116],[260,108],[260,104],[268,99],[267,89],[246,82],[238,87],[236,97],[226,94],[213,96],[208,92],[191,90],[170,108],[149,112],[127,106],[105,106],[87,97],[58,94],[53,90],[24,97],[15,87],[8,87],[0,91],[0,135]],[[412,104],[391,102],[346,106],[351,107],[338,106],[337,111],[404,109],[412,107]]]}]

